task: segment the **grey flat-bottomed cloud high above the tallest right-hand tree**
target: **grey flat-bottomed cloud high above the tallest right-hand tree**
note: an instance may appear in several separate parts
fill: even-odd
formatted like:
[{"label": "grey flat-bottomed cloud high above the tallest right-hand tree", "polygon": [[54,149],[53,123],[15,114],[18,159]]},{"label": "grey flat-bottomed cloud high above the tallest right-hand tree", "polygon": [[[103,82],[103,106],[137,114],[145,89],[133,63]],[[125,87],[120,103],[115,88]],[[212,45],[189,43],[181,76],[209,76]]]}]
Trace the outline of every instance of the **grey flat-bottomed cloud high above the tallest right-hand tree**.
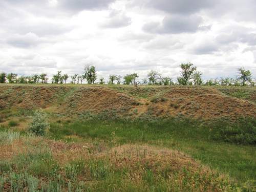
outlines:
[{"label": "grey flat-bottomed cloud high above the tallest right-hand tree", "polygon": [[161,23],[148,23],[143,30],[150,33],[193,33],[199,30],[202,17],[197,15],[171,15],[166,16]]}]

